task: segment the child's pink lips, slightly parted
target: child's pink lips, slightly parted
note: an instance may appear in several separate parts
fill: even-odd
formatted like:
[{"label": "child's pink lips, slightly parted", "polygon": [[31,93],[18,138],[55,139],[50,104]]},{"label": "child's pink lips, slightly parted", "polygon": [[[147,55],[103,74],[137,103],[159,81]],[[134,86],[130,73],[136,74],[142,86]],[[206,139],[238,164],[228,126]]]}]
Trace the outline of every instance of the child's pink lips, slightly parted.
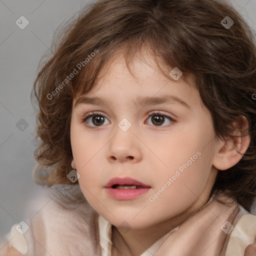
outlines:
[{"label": "child's pink lips, slightly parted", "polygon": [[[139,185],[143,186],[142,188],[134,188],[134,189],[119,189],[119,188],[112,188],[111,186],[114,184],[119,185]],[[106,192],[108,195],[115,199],[119,200],[131,200],[143,193],[146,193],[151,187],[146,185],[140,181],[137,181],[130,177],[115,177],[110,179],[107,184],[104,186],[106,188]]]}]

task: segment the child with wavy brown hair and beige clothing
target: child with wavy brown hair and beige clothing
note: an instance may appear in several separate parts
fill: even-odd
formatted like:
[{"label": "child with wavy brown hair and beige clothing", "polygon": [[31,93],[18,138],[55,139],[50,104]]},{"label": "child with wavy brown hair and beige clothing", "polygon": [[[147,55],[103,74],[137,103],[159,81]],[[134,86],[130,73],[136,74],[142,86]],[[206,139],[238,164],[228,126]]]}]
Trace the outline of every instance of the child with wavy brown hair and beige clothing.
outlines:
[{"label": "child with wavy brown hair and beige clothing", "polygon": [[100,0],[60,33],[34,83],[35,178],[62,190],[2,255],[255,255],[242,17],[223,0]]}]

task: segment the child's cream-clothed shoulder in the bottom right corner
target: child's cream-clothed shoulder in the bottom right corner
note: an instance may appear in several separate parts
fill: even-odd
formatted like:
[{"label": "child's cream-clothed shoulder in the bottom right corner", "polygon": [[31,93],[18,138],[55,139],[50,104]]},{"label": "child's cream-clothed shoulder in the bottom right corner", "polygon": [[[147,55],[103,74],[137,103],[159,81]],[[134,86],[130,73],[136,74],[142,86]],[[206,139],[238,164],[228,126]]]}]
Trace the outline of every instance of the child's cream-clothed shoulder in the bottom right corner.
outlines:
[{"label": "child's cream-clothed shoulder in the bottom right corner", "polygon": [[256,216],[239,206],[241,214],[234,220],[225,256],[243,256],[246,247],[256,239]]}]

